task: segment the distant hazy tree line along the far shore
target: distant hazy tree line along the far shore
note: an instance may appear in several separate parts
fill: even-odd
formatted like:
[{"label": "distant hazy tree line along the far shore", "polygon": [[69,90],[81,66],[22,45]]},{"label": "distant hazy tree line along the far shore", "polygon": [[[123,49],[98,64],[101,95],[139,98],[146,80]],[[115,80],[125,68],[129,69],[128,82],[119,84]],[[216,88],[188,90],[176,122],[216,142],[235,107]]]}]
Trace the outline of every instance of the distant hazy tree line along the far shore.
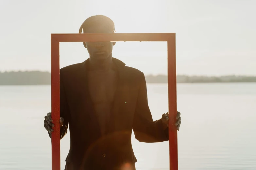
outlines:
[{"label": "distant hazy tree line along the far shore", "polygon": [[[147,83],[167,83],[166,75],[145,76]],[[185,76],[177,75],[177,83],[256,82],[256,76]],[[0,72],[0,85],[49,85],[51,73],[42,71]]]}]

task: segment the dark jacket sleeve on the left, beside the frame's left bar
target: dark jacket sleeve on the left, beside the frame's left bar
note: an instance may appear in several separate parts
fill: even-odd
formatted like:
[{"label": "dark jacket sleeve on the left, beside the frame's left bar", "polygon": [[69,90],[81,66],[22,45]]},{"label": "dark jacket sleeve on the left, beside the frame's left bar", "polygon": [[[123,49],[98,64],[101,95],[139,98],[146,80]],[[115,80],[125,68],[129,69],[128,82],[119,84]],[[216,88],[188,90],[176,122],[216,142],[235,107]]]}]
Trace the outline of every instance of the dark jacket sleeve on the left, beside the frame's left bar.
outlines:
[{"label": "dark jacket sleeve on the left, beside the frame's left bar", "polygon": [[[60,117],[64,119],[63,126],[60,128],[60,139],[62,139],[68,132],[68,123],[70,120],[69,106],[66,98],[64,88],[63,76],[60,71]],[[48,132],[49,134],[49,132]],[[51,134],[49,134],[51,137]]]}]

